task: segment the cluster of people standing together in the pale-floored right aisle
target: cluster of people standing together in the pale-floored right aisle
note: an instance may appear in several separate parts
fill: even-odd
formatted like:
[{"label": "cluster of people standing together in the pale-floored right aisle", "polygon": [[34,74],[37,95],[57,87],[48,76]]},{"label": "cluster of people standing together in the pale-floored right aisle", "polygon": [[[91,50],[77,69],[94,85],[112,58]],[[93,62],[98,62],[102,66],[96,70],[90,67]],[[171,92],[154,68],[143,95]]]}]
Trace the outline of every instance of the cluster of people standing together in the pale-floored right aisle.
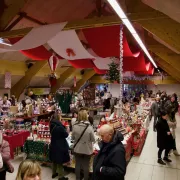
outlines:
[{"label": "cluster of people standing together in the pale-floored right aisle", "polygon": [[[174,155],[180,156],[176,148],[176,113],[178,112],[179,103],[178,97],[174,93],[167,96],[166,92],[158,91],[156,101],[151,106],[151,115],[154,117],[153,130],[157,131],[157,146],[158,163],[165,165],[166,162],[171,162],[168,155],[171,150]],[[161,155],[165,150],[165,155],[162,160]]]}]

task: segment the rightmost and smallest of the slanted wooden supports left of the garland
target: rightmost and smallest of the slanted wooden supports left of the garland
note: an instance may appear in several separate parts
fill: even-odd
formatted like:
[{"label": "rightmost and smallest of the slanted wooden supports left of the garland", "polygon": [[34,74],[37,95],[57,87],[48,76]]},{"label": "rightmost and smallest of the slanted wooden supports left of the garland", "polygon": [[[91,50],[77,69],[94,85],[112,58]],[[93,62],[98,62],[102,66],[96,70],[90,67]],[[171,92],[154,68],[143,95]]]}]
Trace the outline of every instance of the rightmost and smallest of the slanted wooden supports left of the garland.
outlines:
[{"label": "rightmost and smallest of the slanted wooden supports left of the garland", "polygon": [[81,86],[88,81],[90,78],[92,78],[95,75],[95,71],[94,70],[90,70],[90,71],[85,71],[82,79],[80,81],[77,82],[76,87],[73,88],[73,90],[75,92],[78,92],[79,89],[81,88]]}]

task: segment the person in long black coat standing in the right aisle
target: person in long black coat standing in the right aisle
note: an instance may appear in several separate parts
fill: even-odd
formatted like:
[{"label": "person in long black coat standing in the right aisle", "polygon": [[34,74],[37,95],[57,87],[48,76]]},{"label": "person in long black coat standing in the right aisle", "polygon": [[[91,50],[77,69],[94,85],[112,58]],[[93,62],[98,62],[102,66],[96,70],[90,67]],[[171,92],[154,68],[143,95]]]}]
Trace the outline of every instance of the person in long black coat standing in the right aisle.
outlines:
[{"label": "person in long black coat standing in the right aisle", "polygon": [[[166,111],[161,112],[161,118],[158,120],[156,124],[157,130],[157,147],[158,151],[158,163],[162,165],[166,165],[166,162],[172,162],[168,158],[168,154],[170,150],[173,148],[173,137],[171,131],[169,129],[169,125],[167,123],[168,113]],[[161,155],[163,150],[165,150],[164,158],[162,160]]]}]

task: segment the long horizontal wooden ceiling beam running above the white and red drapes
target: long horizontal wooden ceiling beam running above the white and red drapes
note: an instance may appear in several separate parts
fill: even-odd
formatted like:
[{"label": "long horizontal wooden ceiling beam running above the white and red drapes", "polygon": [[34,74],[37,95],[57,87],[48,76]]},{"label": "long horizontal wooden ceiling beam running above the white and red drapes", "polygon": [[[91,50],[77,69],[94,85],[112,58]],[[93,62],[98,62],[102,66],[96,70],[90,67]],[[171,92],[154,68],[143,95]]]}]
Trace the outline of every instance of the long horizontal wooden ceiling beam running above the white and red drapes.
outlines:
[{"label": "long horizontal wooden ceiling beam running above the white and red drapes", "polygon": [[[158,11],[152,12],[143,12],[143,13],[131,13],[128,14],[128,17],[133,22],[142,22],[142,21],[154,21],[154,20],[161,20],[167,19],[168,17]],[[90,19],[82,19],[76,21],[70,21],[64,27],[63,30],[71,30],[71,29],[85,29],[85,28],[95,28],[95,27],[103,27],[103,26],[112,26],[112,25],[119,25],[122,21],[117,16],[105,16],[105,17],[94,17]],[[22,37],[29,33],[32,28],[24,28],[12,31],[5,31],[0,32],[1,38],[13,38],[13,37]]]}]

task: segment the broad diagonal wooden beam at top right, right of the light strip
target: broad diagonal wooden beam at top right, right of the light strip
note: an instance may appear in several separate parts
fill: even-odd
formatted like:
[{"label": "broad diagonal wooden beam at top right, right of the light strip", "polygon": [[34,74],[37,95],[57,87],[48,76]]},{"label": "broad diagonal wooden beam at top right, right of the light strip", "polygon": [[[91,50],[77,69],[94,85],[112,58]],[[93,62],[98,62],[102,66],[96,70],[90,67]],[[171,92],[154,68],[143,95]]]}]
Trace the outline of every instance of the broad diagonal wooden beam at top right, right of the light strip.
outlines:
[{"label": "broad diagonal wooden beam at top right, right of the light strip", "polygon": [[[144,4],[141,0],[126,0],[128,13],[153,12],[154,9]],[[129,1],[129,3],[128,3]],[[165,15],[166,16],[166,15]],[[139,21],[138,23],[148,32],[154,34],[156,37],[164,41],[170,47],[180,52],[180,23],[167,18],[147,19],[146,21]]]}]

